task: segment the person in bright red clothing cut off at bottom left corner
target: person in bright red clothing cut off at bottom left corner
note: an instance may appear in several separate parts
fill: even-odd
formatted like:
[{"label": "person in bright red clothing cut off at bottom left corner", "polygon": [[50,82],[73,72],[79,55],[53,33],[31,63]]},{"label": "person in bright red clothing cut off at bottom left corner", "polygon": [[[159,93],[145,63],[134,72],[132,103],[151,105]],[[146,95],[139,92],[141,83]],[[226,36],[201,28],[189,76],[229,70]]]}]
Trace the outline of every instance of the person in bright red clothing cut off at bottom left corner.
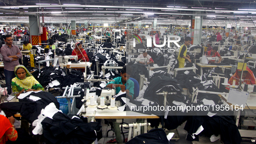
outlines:
[{"label": "person in bright red clothing cut off at bottom left corner", "polygon": [[8,139],[10,141],[16,141],[18,138],[18,132],[14,127],[15,118],[11,116],[6,118],[0,115],[0,144],[5,144]]}]

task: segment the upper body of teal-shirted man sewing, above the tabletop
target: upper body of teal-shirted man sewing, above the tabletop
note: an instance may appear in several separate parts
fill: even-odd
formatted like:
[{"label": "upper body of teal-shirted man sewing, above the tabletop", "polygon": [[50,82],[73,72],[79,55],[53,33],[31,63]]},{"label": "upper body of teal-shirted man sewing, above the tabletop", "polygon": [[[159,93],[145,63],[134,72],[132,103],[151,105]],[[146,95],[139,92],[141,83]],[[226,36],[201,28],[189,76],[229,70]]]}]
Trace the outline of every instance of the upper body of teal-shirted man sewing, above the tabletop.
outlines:
[{"label": "upper body of teal-shirted man sewing, above the tabletop", "polygon": [[133,94],[134,94],[134,83],[132,80],[130,80],[130,75],[131,75],[131,68],[129,66],[123,66],[121,73],[121,77],[116,77],[111,81],[110,83],[107,84],[106,87],[112,88],[113,86],[116,87],[116,94],[120,92],[126,91],[126,95],[129,96],[131,99],[133,99]]}]

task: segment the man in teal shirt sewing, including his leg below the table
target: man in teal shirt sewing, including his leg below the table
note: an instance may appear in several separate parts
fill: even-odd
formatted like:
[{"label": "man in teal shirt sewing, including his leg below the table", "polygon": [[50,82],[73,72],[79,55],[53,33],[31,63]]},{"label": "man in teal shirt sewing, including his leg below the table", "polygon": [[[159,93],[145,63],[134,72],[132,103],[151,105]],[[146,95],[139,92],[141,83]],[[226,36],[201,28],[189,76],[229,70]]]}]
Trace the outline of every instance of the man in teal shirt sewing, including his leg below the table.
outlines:
[{"label": "man in teal shirt sewing, including his leg below the table", "polygon": [[[112,88],[113,86],[116,87],[116,94],[120,92],[126,91],[126,96],[129,96],[133,99],[134,94],[134,83],[130,80],[130,75],[132,74],[131,67],[128,65],[123,66],[121,70],[121,77],[114,78],[113,82],[107,83],[107,88]],[[113,129],[116,134],[117,143],[123,143],[121,138],[121,131],[120,131],[120,123],[116,122],[116,119],[107,119],[109,122],[113,122]]]}]

